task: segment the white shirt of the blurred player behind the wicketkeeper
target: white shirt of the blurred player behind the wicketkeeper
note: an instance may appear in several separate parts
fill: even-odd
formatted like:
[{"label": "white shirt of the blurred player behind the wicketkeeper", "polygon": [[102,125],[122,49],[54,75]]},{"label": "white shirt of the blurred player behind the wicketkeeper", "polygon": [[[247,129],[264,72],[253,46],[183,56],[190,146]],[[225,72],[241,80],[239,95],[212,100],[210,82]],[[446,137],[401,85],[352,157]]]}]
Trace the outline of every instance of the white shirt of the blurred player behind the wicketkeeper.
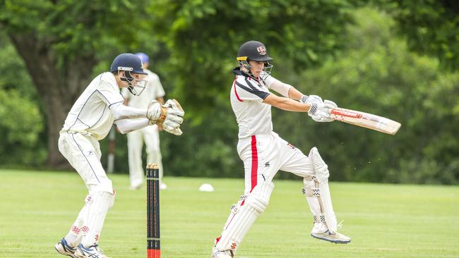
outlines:
[{"label": "white shirt of the blurred player behind the wicketkeeper", "polygon": [[134,96],[133,94],[129,93],[127,88],[121,89],[121,94],[125,99],[128,99],[128,106],[135,107],[137,109],[146,109],[148,104],[153,100],[164,97],[165,91],[161,85],[160,78],[150,70],[143,69],[146,73],[148,73],[143,80],[147,81],[147,85],[145,86],[145,90],[143,90],[140,96]]}]

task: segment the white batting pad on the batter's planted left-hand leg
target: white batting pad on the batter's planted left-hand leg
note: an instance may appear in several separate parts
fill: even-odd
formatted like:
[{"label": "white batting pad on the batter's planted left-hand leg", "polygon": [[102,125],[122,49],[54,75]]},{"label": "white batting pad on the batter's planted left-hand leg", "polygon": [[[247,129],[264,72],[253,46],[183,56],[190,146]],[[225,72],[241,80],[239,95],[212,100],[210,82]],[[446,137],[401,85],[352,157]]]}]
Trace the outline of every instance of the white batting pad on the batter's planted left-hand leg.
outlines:
[{"label": "white batting pad on the batter's planted left-hand leg", "polygon": [[241,208],[234,212],[232,219],[227,223],[226,228],[222,232],[222,237],[215,245],[217,250],[232,250],[233,254],[236,252],[237,247],[239,247],[239,244],[254,224],[256,218],[268,206],[273,189],[273,182],[265,181],[256,185],[241,205]]}]

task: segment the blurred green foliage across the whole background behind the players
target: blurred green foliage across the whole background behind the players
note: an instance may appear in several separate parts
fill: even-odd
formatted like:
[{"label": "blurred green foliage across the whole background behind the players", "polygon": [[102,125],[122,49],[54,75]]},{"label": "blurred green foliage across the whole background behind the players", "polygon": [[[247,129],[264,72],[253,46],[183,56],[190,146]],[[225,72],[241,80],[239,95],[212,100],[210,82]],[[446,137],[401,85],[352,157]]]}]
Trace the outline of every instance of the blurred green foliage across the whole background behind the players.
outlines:
[{"label": "blurred green foliage across the whole background behind the players", "polygon": [[[306,154],[317,146],[332,180],[457,184],[459,75],[445,72],[458,66],[457,4],[381,0],[371,4],[386,13],[355,9],[365,2],[0,1],[0,163],[42,164],[46,145],[56,152],[55,142],[45,143],[49,132],[61,126],[49,117],[67,112],[49,102],[68,105],[116,54],[145,51],[166,97],[186,110],[184,135],[161,133],[165,174],[241,177],[228,91],[239,46],[256,39],[274,58],[275,78],[403,124],[391,136],[273,109],[275,131]],[[35,52],[18,50],[23,63],[5,35],[33,41]],[[28,76],[37,70],[46,72]],[[115,154],[116,171],[126,173],[124,135]]]}]

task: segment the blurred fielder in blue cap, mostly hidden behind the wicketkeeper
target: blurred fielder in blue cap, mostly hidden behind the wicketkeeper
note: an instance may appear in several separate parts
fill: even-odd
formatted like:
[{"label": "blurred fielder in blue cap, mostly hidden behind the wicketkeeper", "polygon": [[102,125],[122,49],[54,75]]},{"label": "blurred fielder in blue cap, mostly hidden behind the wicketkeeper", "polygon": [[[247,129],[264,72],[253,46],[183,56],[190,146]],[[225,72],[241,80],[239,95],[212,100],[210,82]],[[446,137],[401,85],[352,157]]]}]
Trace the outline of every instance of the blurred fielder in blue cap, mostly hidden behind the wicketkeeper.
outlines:
[{"label": "blurred fielder in blue cap, mostly hidden behind the wicketkeeper", "polygon": [[[156,99],[161,104],[164,103],[165,91],[162,88],[160,78],[148,70],[150,60],[145,53],[137,53],[136,56],[142,61],[142,68],[147,75],[143,80],[147,82],[144,92],[141,96],[129,94],[126,88],[121,90],[125,99],[124,104],[138,109],[146,109],[152,99]],[[167,185],[162,182],[162,156],[160,150],[160,133],[158,125],[150,125],[127,134],[128,137],[128,154],[129,154],[129,179],[131,180],[131,189],[141,188],[144,180],[144,171],[142,166],[142,149],[145,142],[145,152],[147,153],[147,164],[158,164],[160,168],[160,189],[166,189]]]}]

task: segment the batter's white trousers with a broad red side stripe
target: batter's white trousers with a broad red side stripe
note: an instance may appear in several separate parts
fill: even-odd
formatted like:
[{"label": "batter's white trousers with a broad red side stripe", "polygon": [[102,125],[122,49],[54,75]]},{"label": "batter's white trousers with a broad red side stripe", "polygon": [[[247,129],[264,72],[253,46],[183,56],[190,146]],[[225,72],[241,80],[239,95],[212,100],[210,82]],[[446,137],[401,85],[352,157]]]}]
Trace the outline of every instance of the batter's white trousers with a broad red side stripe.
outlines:
[{"label": "batter's white trousers with a broad red side stripe", "polygon": [[311,159],[274,132],[239,139],[237,153],[244,162],[246,195],[259,182],[272,181],[279,170],[303,178],[314,175]]}]

